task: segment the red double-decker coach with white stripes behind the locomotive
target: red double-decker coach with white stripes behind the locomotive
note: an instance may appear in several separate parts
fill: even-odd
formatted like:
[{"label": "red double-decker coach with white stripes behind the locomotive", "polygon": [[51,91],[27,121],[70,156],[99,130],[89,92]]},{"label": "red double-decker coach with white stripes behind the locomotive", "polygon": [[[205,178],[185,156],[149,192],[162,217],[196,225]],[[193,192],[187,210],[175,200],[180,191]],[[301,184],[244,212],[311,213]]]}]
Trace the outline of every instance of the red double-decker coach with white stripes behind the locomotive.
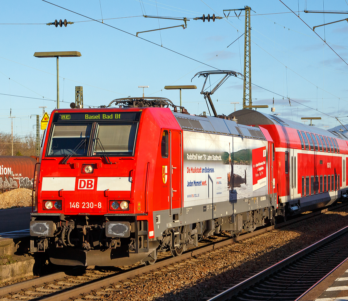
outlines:
[{"label": "red double-decker coach with white stripes behind the locomotive", "polygon": [[347,136],[252,110],[238,123],[267,129],[275,147],[278,215],[331,205],[347,197]]}]

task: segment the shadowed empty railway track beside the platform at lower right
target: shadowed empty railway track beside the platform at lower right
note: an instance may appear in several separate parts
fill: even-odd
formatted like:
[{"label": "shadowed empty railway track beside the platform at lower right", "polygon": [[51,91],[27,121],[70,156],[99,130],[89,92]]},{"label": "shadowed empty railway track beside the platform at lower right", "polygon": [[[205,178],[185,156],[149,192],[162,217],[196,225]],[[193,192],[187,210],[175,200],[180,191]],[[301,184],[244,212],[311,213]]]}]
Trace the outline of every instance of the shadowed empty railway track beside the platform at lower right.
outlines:
[{"label": "shadowed empty railway track beside the platform at lower right", "polygon": [[348,226],[208,301],[296,301],[348,259]]}]

